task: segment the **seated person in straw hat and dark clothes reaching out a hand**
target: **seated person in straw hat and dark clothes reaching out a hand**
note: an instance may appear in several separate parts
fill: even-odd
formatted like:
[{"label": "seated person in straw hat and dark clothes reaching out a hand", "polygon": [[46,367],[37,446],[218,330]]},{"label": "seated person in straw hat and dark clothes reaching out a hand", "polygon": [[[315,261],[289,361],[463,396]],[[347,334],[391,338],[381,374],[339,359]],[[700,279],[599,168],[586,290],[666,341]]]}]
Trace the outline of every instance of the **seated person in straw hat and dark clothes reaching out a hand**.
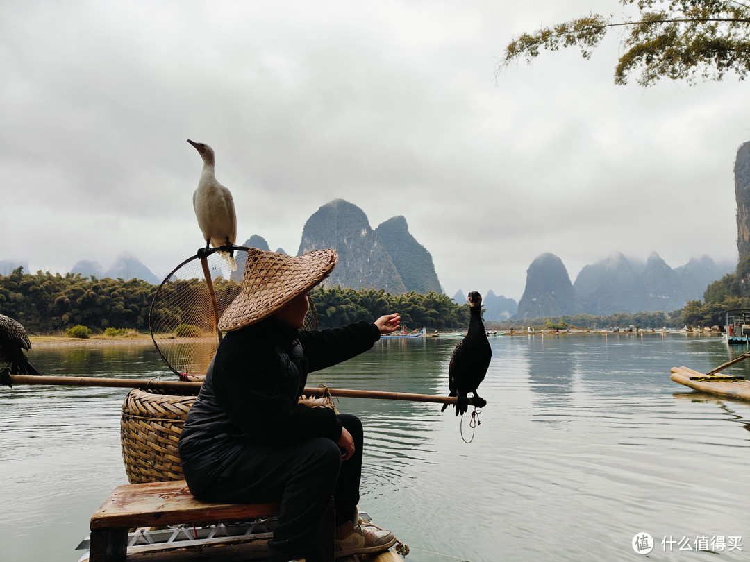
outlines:
[{"label": "seated person in straw hat and dark clothes reaching out a hand", "polygon": [[341,363],[398,330],[398,314],[302,330],[308,291],[331,274],[335,250],[302,256],[251,248],[242,288],[221,315],[226,331],[179,441],[190,492],[204,501],[281,502],[271,562],[317,561],[333,495],[335,556],[382,552],[390,531],[359,519],[359,418],[300,404],[308,372]]}]

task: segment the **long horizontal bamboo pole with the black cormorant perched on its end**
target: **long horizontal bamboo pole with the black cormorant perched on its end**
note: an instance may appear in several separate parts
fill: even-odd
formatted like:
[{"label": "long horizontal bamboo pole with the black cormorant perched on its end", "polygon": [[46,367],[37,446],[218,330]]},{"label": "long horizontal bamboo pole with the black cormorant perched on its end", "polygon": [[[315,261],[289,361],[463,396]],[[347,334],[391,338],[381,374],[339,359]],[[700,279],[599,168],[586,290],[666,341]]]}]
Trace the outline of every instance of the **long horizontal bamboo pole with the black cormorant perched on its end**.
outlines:
[{"label": "long horizontal bamboo pole with the black cormorant perched on its end", "polygon": [[[99,377],[55,377],[10,375],[12,384],[48,384],[64,387],[120,387],[141,388],[143,390],[178,390],[183,394],[197,394],[201,382],[143,380],[136,378],[99,378]],[[414,394],[403,392],[383,392],[380,390],[352,390],[348,388],[305,387],[302,391],[307,396],[341,396],[341,398],[368,398],[380,400],[407,400],[410,402],[434,402],[436,404],[455,404],[455,396],[434,396],[432,394]],[[469,399],[471,404],[471,399]]]}]

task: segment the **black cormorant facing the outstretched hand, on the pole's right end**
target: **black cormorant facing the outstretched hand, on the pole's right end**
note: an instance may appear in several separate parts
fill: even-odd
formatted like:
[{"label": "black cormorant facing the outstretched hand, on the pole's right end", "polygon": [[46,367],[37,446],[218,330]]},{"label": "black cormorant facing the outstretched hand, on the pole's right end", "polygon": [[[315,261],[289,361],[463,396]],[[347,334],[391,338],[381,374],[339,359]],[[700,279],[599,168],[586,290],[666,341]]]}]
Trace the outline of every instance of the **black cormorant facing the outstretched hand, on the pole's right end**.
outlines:
[{"label": "black cormorant facing the outstretched hand, on the pole's right end", "polygon": [[[473,394],[473,406],[481,408],[487,405],[487,401],[476,393],[477,387],[484,381],[484,375],[487,374],[492,359],[490,342],[481,321],[481,294],[477,291],[469,293],[469,310],[469,330],[453,350],[448,366],[448,384],[451,390],[448,396],[455,396],[457,399],[457,416],[465,414],[469,409],[468,393]],[[444,404],[440,411],[445,411],[446,408],[448,405]]]}]

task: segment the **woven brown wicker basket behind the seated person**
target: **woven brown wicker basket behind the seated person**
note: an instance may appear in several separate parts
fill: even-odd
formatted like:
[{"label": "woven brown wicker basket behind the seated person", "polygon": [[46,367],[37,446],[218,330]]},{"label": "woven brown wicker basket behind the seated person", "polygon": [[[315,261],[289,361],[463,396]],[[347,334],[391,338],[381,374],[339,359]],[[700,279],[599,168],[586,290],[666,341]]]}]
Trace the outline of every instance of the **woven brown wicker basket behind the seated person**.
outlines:
[{"label": "woven brown wicker basket behind the seated person", "polygon": [[[195,396],[156,394],[133,388],[122,404],[120,440],[131,484],[182,480],[177,444]],[[334,408],[331,396],[300,399],[313,407]]]}]

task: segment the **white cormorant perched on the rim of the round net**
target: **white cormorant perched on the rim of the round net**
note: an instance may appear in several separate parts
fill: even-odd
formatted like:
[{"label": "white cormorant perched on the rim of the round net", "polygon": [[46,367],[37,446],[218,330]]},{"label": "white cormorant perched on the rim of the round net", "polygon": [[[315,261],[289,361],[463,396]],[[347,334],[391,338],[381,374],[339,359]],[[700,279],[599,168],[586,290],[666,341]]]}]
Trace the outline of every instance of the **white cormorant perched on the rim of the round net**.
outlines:
[{"label": "white cormorant perched on the rim of the round net", "polygon": [[[214,149],[202,142],[190,139],[187,142],[193,145],[203,159],[198,187],[193,192],[193,209],[205,240],[205,249],[208,250],[209,245],[214,248],[231,246],[237,238],[237,214],[232,193],[216,181]],[[236,271],[237,264],[232,253],[221,252],[221,256],[226,259],[229,268]]]}]

